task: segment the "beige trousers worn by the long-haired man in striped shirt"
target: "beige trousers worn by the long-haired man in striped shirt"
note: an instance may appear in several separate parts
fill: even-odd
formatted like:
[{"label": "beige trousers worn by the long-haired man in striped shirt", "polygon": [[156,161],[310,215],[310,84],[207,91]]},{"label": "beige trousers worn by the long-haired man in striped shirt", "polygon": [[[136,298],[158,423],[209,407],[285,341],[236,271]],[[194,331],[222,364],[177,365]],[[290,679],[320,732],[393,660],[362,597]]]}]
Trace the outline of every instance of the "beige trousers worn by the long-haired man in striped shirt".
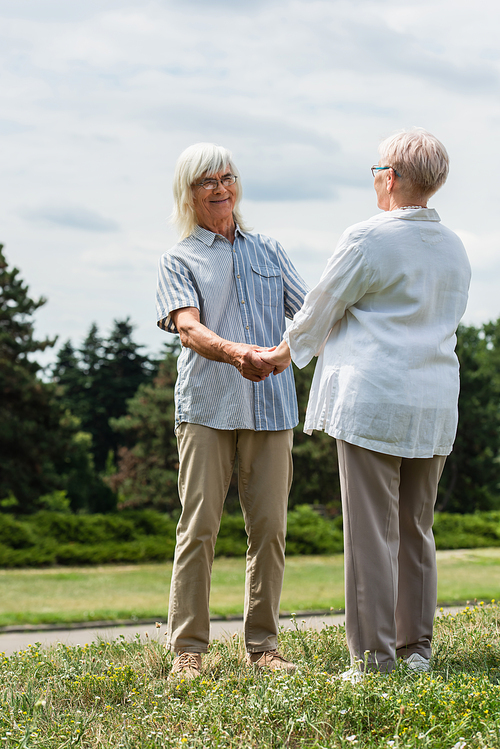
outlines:
[{"label": "beige trousers worn by the long-haired man in striped shirt", "polygon": [[205,653],[214,548],[234,462],[248,535],[244,634],[251,653],[277,647],[285,568],[291,429],[221,430],[183,422],[177,428],[179,496],[167,638],[172,650]]}]

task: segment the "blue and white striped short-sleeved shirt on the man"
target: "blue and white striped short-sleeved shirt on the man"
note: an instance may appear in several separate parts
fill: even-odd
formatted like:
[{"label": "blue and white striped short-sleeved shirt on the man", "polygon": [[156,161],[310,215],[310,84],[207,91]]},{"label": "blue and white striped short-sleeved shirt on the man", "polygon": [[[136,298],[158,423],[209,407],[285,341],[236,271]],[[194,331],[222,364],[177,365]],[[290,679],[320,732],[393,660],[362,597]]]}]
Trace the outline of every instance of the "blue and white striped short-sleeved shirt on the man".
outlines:
[{"label": "blue and white striped short-sleeved shirt on the man", "polygon": [[[236,227],[234,244],[197,226],[160,259],[158,326],[177,333],[170,313],[196,307],[221,338],[277,346],[285,317],[293,318],[307,287],[281,245]],[[177,363],[175,425],[214,429],[291,429],[298,422],[292,368],[262,382],[244,379],[231,364],[182,348]]]}]

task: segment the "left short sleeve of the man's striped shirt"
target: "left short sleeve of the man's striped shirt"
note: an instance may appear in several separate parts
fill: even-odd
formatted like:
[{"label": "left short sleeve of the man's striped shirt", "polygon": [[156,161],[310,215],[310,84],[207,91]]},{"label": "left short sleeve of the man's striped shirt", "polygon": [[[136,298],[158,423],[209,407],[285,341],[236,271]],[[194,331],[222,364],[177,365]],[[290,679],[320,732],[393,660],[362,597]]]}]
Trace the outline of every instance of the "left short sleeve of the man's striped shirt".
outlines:
[{"label": "left short sleeve of the man's striped shirt", "polygon": [[168,333],[178,333],[170,313],[181,307],[200,309],[200,301],[189,268],[168,252],[158,266],[156,287],[157,325]]}]

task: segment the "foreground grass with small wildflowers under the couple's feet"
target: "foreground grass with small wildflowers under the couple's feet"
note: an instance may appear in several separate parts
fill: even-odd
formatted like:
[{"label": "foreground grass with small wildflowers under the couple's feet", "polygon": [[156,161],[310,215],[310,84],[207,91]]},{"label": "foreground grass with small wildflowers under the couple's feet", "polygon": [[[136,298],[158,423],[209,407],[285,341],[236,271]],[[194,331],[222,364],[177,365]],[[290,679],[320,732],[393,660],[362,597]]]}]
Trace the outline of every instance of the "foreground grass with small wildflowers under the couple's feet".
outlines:
[{"label": "foreground grass with small wildflowers under the couple's feet", "polygon": [[400,665],[357,685],[343,627],[287,630],[293,675],[255,672],[239,637],[218,641],[194,682],[171,684],[172,656],[142,645],[30,646],[0,656],[0,742],[6,749],[337,749],[500,747],[500,609],[478,605],[436,621],[429,674]]}]

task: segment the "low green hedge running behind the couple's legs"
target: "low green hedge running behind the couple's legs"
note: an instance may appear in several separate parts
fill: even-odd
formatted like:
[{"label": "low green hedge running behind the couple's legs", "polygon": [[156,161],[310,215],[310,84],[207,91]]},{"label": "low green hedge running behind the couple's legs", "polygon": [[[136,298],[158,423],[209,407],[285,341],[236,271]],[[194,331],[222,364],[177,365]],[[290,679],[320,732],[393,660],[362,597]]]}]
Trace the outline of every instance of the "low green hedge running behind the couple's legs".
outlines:
[{"label": "low green hedge running behind the couple's legs", "polygon": [[[42,510],[15,518],[0,513],[0,567],[162,562],[173,559],[176,518],[155,510],[124,510],[108,515],[72,515]],[[500,546],[500,512],[473,515],[436,513],[438,549]],[[216,556],[244,556],[241,514],[222,516]],[[339,554],[342,517],[323,517],[310,505],[288,513],[286,551]]]}]

